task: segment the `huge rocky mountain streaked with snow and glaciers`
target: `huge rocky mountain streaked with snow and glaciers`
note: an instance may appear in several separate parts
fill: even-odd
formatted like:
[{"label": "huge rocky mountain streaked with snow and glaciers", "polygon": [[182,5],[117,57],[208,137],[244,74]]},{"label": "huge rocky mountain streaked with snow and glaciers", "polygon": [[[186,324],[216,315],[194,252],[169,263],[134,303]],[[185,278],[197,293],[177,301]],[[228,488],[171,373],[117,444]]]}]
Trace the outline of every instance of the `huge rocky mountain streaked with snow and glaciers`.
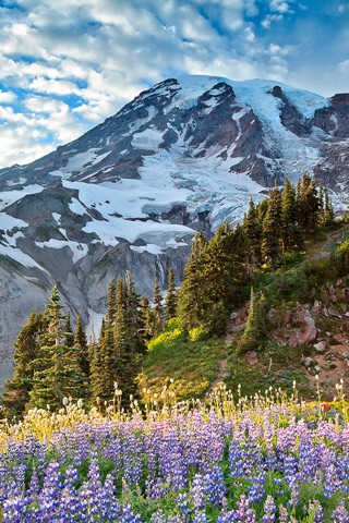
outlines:
[{"label": "huge rocky mountain streaked with snow and glaciers", "polygon": [[194,231],[239,220],[275,179],[309,170],[340,204],[348,160],[349,95],[186,76],[50,155],[0,170],[2,378],[13,339],[53,283],[73,314],[98,325],[111,277],[130,268],[151,295],[172,266],[179,282]]}]

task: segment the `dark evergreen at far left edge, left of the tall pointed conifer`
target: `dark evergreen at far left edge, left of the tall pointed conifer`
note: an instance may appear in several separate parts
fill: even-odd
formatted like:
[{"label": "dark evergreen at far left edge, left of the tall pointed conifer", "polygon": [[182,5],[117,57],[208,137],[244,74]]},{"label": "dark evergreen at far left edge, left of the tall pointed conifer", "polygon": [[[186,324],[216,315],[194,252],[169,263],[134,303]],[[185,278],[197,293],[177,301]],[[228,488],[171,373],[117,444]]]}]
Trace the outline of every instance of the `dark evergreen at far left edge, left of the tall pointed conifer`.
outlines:
[{"label": "dark evergreen at far left edge, left of the tall pointed conifer", "polygon": [[5,381],[2,394],[2,405],[9,417],[22,415],[29,401],[34,387],[34,361],[40,352],[40,339],[48,321],[46,314],[33,311],[14,342],[14,374]]}]

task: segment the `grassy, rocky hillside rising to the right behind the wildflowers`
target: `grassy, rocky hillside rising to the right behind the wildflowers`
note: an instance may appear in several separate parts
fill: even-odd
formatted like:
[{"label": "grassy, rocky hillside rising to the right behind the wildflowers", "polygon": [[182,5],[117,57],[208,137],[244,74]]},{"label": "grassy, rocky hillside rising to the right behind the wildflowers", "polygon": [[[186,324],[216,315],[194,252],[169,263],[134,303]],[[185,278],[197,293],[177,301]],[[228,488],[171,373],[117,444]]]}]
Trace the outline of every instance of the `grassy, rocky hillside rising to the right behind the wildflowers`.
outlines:
[{"label": "grassy, rocky hillside rising to the right behind the wildflowers", "polygon": [[320,392],[324,401],[333,400],[336,385],[349,377],[349,275],[332,259],[340,245],[339,251],[348,247],[348,239],[349,226],[339,221],[306,242],[304,253],[286,267],[256,276],[255,294],[262,291],[268,302],[263,348],[239,353],[250,301],[231,311],[218,339],[207,338],[204,328],[188,339],[174,323],[149,345],[142,389],[160,396],[166,387],[182,400],[203,398],[219,382],[253,396],[269,387],[291,393],[296,381],[304,399]]}]

